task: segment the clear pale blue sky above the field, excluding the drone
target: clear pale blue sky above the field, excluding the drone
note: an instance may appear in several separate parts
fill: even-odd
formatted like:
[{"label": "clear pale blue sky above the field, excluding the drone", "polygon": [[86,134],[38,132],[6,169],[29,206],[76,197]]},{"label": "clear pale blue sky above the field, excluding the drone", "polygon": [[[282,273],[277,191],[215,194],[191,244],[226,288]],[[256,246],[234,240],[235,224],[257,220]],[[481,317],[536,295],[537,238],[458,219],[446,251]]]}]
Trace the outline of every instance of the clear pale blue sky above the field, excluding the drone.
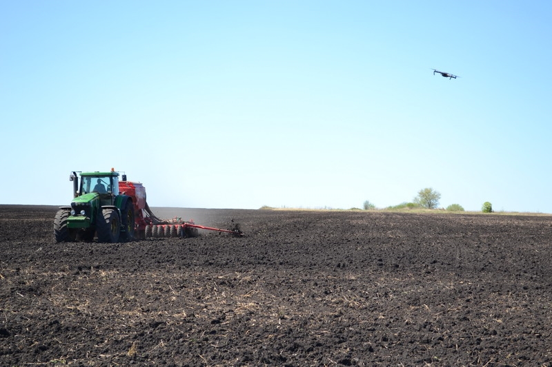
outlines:
[{"label": "clear pale blue sky above the field, excluding the drone", "polygon": [[[2,204],[552,213],[548,1],[2,1]],[[449,80],[432,68],[460,76]]]}]

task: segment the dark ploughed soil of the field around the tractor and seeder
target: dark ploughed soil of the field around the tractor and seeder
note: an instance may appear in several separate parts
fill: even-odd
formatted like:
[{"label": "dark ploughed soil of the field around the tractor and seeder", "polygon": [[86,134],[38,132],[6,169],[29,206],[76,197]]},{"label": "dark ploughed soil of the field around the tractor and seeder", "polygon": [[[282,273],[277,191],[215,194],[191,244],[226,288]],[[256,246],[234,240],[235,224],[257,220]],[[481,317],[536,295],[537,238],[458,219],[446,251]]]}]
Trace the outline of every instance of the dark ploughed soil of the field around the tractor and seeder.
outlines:
[{"label": "dark ploughed soil of the field around the tractor and seeder", "polygon": [[57,244],[0,206],[1,366],[550,366],[552,216],[157,209]]}]

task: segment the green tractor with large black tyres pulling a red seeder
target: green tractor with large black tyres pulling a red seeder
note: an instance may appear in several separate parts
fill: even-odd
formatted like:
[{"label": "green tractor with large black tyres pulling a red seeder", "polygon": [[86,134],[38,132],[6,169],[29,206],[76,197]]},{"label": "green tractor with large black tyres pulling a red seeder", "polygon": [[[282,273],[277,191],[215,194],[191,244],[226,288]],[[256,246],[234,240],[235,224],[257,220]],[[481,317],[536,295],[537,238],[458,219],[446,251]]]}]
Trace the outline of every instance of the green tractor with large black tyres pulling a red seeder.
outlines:
[{"label": "green tractor with large black tyres pulling a red seeder", "polygon": [[[74,198],[69,207],[59,207],[54,219],[57,242],[129,241],[135,235],[135,204],[119,193],[119,172],[72,172]],[[126,181],[126,175],[122,176]],[[80,181],[80,185],[79,185]]]}]

